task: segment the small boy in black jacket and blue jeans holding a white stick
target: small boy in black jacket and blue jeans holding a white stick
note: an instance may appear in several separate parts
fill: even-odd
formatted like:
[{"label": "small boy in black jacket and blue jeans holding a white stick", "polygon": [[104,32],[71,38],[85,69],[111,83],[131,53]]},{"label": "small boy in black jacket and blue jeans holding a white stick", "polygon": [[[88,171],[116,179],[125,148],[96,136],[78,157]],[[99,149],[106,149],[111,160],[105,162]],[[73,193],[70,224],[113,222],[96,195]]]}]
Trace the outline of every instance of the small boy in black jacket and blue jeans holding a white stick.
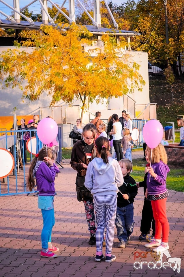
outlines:
[{"label": "small boy in black jacket and blue jeans holding a white stick", "polygon": [[116,228],[119,239],[118,248],[125,248],[134,228],[134,198],[138,189],[135,180],[129,176],[132,171],[132,162],[129,159],[119,161],[124,182],[119,187],[117,198]]}]

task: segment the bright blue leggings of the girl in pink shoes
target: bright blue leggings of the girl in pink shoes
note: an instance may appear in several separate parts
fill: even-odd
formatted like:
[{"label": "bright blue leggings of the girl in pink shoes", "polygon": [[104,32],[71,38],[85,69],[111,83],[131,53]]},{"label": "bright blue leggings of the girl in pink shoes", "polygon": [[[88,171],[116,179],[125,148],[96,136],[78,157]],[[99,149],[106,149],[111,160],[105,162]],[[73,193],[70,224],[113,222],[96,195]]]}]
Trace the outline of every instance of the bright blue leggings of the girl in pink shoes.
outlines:
[{"label": "bright blue leggings of the girl in pink shoes", "polygon": [[44,221],[44,226],[41,233],[42,248],[48,248],[48,242],[51,242],[52,227],[55,224],[54,209],[42,209],[42,217]]}]

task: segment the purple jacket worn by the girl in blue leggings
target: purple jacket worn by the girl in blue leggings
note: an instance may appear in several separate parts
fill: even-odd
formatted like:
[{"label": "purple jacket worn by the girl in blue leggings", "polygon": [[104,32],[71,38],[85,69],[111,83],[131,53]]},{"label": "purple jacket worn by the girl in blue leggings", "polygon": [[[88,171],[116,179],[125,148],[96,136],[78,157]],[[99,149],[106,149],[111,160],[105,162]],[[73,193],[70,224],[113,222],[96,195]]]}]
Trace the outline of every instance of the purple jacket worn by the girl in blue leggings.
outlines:
[{"label": "purple jacket worn by the girl in blue leggings", "polygon": [[40,196],[55,196],[55,166],[48,167],[45,162],[37,162],[35,166],[35,178],[37,190]]}]

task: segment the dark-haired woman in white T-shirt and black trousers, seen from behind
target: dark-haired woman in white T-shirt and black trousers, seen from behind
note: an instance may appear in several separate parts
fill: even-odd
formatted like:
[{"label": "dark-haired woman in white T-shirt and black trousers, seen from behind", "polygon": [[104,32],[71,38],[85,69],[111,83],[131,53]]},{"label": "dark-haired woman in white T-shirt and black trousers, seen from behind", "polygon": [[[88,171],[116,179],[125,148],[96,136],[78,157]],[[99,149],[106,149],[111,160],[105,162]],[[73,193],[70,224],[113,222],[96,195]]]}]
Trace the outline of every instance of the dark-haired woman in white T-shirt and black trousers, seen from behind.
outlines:
[{"label": "dark-haired woman in white T-shirt and black trousers, seen from behind", "polygon": [[123,152],[122,152],[122,147],[121,147],[121,131],[122,131],[122,125],[121,122],[119,122],[118,115],[115,113],[113,115],[113,130],[110,132],[110,135],[113,135],[113,146],[114,150],[116,152],[117,156],[117,161],[123,159]]}]

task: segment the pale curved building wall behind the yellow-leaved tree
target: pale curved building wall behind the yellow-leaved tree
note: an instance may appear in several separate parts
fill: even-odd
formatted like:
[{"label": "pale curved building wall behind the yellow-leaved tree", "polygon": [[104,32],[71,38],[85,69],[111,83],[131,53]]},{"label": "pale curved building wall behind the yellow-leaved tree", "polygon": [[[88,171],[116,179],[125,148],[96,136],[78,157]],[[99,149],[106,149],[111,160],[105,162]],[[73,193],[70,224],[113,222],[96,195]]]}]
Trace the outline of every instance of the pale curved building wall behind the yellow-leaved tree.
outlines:
[{"label": "pale curved building wall behind the yellow-leaved tree", "polygon": [[[0,47],[0,53],[7,49],[15,48],[13,46],[11,47]],[[22,49],[25,49],[25,47],[21,47]],[[33,50],[32,47],[27,47],[26,51],[31,53]],[[125,53],[128,53],[130,63],[132,61],[135,61],[136,63],[140,64],[140,74],[142,75],[144,81],[146,82],[146,85],[143,86],[142,92],[139,92],[138,89],[135,89],[134,93],[129,94],[129,96],[135,101],[136,105],[140,104],[148,104],[149,103],[149,79],[148,79],[148,57],[147,53],[145,52],[138,52],[138,51],[129,51],[125,50]],[[3,85],[3,83],[2,83]],[[61,121],[61,115],[63,117],[63,109],[61,111],[61,105],[65,105],[63,101],[58,102],[55,107],[48,108],[49,103],[51,101],[51,97],[47,96],[46,93],[44,93],[40,99],[36,100],[35,102],[28,102],[26,99],[21,100],[22,97],[22,91],[18,89],[18,87],[12,89],[2,89],[2,85],[0,86],[0,97],[1,97],[1,109],[0,109],[0,116],[6,116],[6,115],[12,115],[14,107],[16,107],[17,115],[31,115],[31,114],[40,114],[41,118],[44,118],[48,115],[51,115],[54,117],[57,123],[62,123]],[[102,118],[108,119],[110,115],[113,113],[117,113],[119,116],[121,116],[121,111],[125,109],[128,113],[130,113],[131,117],[134,118],[136,115],[134,113],[134,101],[127,97],[119,97],[119,98],[112,98],[109,100],[109,103],[106,104],[106,99],[104,99],[103,104],[96,104],[95,102],[89,104],[89,111],[92,113],[89,115],[88,113],[84,114],[83,122],[88,123],[89,119],[93,119],[96,111],[101,111]],[[75,105],[80,104],[79,101],[74,102]],[[44,108],[46,107],[46,108]],[[138,107],[138,106],[137,106]],[[142,106],[141,106],[142,109]],[[65,110],[68,110],[66,112],[66,118],[67,123],[75,123],[76,119],[80,117],[80,109],[75,108],[71,112],[71,108],[65,108]],[[75,112],[73,112],[75,111]],[[136,108],[136,114],[138,114],[140,111]],[[70,115],[70,116],[69,116]]]}]

